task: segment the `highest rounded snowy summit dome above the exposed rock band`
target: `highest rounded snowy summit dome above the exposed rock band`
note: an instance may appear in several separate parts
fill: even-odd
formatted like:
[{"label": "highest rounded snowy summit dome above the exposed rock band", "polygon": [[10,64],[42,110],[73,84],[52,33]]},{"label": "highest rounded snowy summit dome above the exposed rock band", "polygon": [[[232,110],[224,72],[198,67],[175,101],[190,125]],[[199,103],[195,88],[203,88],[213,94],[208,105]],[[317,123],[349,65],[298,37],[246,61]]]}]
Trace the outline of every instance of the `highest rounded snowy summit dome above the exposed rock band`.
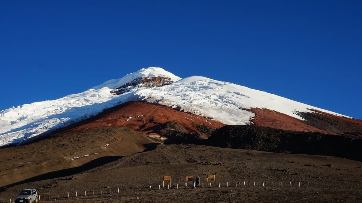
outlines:
[{"label": "highest rounded snowy summit dome above the exposed rock band", "polygon": [[165,71],[163,68],[149,67],[147,69],[140,69],[136,72],[132,72],[119,79],[108,80],[98,86],[92,87],[92,89],[97,90],[103,87],[114,89],[121,87],[126,83],[132,82],[133,80],[138,78],[155,78],[155,77],[169,78],[172,80],[172,82],[176,82],[177,80],[181,79],[180,77],[172,74],[171,72]]}]

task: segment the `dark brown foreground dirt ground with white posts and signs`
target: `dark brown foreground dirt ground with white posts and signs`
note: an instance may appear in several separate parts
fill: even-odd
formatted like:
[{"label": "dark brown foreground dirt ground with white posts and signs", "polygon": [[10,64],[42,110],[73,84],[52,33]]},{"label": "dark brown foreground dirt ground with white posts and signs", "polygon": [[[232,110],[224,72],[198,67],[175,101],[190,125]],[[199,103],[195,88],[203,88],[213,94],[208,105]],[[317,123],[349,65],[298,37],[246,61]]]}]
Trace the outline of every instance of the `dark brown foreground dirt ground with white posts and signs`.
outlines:
[{"label": "dark brown foreground dirt ground with white posts and signs", "polygon": [[[74,178],[66,176],[9,187],[0,192],[0,199],[13,198],[22,188],[34,187],[43,197],[50,194],[52,200],[60,193],[58,202],[361,202],[361,167],[361,162],[338,157],[158,145],[155,150],[124,157]],[[199,175],[206,186],[206,174],[216,174],[216,184],[220,182],[221,187],[193,189],[189,182],[185,189],[186,175]],[[163,175],[172,177],[170,190],[162,187]],[[109,189],[111,194],[105,194]],[[90,195],[92,190],[94,196]],[[80,196],[84,191],[87,196]],[[71,195],[69,199],[67,192]]]}]

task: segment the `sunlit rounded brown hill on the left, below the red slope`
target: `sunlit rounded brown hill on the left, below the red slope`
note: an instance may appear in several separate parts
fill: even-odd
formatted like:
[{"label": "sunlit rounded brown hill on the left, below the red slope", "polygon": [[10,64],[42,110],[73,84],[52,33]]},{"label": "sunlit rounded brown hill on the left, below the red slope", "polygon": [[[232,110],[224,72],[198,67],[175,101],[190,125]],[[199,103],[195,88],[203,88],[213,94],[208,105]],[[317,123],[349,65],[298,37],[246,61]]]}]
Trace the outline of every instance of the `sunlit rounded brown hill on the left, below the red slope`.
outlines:
[{"label": "sunlit rounded brown hill on the left, below the red slope", "polygon": [[0,149],[0,187],[52,171],[72,174],[87,170],[142,152],[152,144],[155,141],[131,129],[102,127],[52,135],[26,145]]}]

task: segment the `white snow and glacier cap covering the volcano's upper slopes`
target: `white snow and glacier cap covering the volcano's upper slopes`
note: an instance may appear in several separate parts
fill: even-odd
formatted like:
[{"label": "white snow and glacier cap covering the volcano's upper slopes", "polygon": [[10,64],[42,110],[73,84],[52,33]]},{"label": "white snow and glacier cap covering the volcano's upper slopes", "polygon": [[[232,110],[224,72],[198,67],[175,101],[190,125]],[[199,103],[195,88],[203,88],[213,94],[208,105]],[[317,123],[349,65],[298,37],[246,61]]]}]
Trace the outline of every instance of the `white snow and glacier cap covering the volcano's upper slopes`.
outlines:
[{"label": "white snow and glacier cap covering the volcano's upper slopes", "polygon": [[181,79],[157,67],[140,69],[120,79],[79,94],[9,108],[0,113],[0,146],[50,133],[55,129],[97,115],[126,101],[147,101],[191,112],[229,125],[245,125],[266,108],[303,120],[298,112],[310,109],[343,116],[267,92],[202,76]]}]

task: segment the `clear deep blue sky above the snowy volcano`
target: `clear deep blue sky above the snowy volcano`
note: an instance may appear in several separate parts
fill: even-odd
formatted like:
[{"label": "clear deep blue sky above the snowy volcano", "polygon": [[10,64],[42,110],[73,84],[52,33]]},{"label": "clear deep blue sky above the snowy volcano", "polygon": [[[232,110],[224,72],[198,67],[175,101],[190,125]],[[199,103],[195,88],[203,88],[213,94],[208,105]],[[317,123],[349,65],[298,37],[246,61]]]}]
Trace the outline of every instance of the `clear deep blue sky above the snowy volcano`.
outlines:
[{"label": "clear deep blue sky above the snowy volcano", "polygon": [[0,1],[0,109],[163,67],[362,119],[361,1]]}]

